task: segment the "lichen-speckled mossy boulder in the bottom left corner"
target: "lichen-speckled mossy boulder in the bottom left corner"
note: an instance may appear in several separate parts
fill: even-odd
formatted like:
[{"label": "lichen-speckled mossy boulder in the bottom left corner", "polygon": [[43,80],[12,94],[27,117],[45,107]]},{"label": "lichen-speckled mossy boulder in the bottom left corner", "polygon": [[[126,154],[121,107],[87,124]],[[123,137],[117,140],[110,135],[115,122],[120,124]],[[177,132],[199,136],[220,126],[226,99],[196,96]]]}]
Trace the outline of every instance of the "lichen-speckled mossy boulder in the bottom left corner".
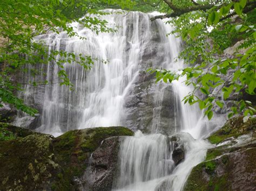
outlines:
[{"label": "lichen-speckled mossy boulder in the bottom left corner", "polygon": [[[0,190],[41,190],[51,179],[56,166],[52,166],[51,139],[48,135],[31,134],[24,138],[0,143]],[[45,187],[44,187],[45,188]]]}]

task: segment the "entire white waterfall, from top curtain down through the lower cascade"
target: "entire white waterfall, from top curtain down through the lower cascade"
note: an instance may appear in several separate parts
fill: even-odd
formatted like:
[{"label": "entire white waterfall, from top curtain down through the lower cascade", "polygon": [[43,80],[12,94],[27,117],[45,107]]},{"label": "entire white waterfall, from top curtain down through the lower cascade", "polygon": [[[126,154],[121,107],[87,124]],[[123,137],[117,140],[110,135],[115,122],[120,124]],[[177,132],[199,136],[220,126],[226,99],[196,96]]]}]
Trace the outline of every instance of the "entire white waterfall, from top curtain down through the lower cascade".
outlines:
[{"label": "entire white waterfall, from top curtain down through the lower cascade", "polygon": [[[39,108],[38,130],[55,136],[97,126],[120,125],[138,130],[134,124],[146,121],[146,134],[140,129],[120,145],[119,174],[113,190],[182,190],[192,167],[205,158],[210,145],[200,138],[210,129],[198,107],[181,103],[191,90],[183,79],[156,84],[154,77],[145,73],[149,67],[182,68],[182,60],[176,61],[181,41],[166,36],[172,26],[165,20],[150,21],[157,13],[105,11],[111,14],[103,18],[109,26],[117,26],[117,32],[97,35],[73,23],[86,40],[68,38],[63,32],[36,37],[50,48],[91,55],[99,61],[91,70],[75,63],[64,65],[74,91],[59,86],[56,65],[41,66],[46,75],[36,79],[28,76],[27,80],[48,80],[49,86],[27,86],[24,99],[27,103],[32,100]],[[129,96],[131,101],[127,101]],[[172,159],[173,137],[185,150],[185,159],[178,165]]]}]

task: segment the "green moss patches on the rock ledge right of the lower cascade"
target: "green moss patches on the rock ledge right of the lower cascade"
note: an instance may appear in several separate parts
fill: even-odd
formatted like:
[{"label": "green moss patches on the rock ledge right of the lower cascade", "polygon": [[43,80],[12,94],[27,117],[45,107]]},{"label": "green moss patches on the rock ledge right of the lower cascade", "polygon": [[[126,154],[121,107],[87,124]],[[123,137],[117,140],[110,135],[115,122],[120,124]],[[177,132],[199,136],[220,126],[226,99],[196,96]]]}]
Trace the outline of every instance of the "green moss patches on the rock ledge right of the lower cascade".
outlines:
[{"label": "green moss patches on the rock ledge right of the lower cascade", "polygon": [[[234,117],[229,120],[223,128],[215,132],[210,138],[211,143],[221,143],[230,137],[238,137],[243,134],[250,133],[255,130],[255,118],[251,118],[246,123],[243,122],[242,116]],[[250,147],[250,149],[247,149]],[[256,166],[256,150],[255,145],[244,145],[237,147],[219,146],[211,148],[207,151],[206,160],[192,169],[188,176],[184,190],[231,190],[233,184],[232,170],[235,167],[230,159],[230,154],[236,151],[242,151],[247,156],[247,169],[249,173],[253,173]],[[229,154],[228,154],[229,153]],[[217,157],[220,156],[218,159]],[[215,173],[217,167],[221,169],[219,174]]]}]

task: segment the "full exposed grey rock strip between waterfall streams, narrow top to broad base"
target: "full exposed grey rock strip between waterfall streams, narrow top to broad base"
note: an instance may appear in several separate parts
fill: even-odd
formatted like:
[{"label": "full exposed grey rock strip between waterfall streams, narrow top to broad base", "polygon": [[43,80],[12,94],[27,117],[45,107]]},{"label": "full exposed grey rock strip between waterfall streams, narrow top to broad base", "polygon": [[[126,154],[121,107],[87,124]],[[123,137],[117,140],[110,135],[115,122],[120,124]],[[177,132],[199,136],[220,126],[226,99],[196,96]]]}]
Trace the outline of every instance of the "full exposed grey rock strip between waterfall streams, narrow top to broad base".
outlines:
[{"label": "full exposed grey rock strip between waterfall streams, narrow top to broad base", "polygon": [[[147,28],[142,27],[143,30]],[[170,135],[179,128],[177,116],[180,115],[176,94],[171,86],[157,83],[154,74],[147,73],[149,68],[159,68],[171,55],[165,54],[165,37],[161,37],[157,22],[152,22],[152,39],[144,47],[137,79],[125,96],[125,126],[132,130],[152,132],[156,124],[160,127],[157,132]],[[159,102],[157,102],[157,100]],[[156,116],[158,115],[158,116]],[[159,119],[157,122],[154,119]]]}]

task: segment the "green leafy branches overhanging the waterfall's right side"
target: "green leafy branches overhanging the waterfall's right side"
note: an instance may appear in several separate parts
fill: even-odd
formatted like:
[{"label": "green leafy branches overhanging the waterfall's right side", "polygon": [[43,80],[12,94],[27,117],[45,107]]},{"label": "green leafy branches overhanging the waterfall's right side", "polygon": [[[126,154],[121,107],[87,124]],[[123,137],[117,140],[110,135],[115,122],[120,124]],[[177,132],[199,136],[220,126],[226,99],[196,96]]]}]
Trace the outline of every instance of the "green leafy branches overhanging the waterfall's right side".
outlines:
[{"label": "green leafy branches overhanging the waterfall's right side", "polygon": [[[184,97],[184,102],[198,103],[208,119],[213,116],[214,107],[224,108],[225,100],[231,95],[240,94],[234,101],[228,117],[238,113],[254,115],[255,108],[243,94],[255,95],[255,1],[191,1],[183,8],[175,5],[177,1],[165,1],[172,12],[153,17],[173,17],[169,23],[176,26],[172,33],[185,42],[180,58],[188,64],[179,71],[150,69],[156,72],[157,81],[172,82],[185,76],[186,86],[193,91]],[[191,5],[193,3],[193,5]],[[233,18],[232,18],[233,17]],[[238,18],[238,22],[234,22]],[[225,48],[243,40],[238,52],[231,58],[221,55]],[[239,53],[239,49],[245,49]],[[242,52],[242,51],[240,51]],[[199,96],[203,94],[204,96]]]}]

